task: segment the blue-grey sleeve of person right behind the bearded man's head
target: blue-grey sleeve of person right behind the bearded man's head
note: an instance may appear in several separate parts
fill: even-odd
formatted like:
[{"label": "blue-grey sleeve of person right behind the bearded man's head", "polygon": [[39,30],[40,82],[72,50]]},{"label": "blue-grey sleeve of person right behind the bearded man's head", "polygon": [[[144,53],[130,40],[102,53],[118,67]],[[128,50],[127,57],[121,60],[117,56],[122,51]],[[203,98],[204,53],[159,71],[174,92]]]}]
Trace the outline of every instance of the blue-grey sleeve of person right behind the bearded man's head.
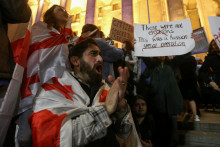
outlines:
[{"label": "blue-grey sleeve of person right behind the bearded man's head", "polygon": [[116,62],[117,60],[123,59],[124,52],[122,49],[116,48],[109,45],[101,38],[96,38],[98,47],[101,50],[102,58],[105,62]]}]

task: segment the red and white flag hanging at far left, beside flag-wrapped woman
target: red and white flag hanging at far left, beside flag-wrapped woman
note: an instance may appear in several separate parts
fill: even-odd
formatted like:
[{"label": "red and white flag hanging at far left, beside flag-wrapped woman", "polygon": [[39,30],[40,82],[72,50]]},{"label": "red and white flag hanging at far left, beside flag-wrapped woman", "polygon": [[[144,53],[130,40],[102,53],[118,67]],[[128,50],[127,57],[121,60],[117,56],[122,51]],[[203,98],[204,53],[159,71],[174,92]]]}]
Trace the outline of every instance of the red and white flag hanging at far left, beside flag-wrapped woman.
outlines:
[{"label": "red and white flag hanging at far left, beside flag-wrapped woman", "polygon": [[11,119],[20,100],[20,87],[30,44],[32,17],[27,23],[9,24],[8,36],[16,63],[12,79],[0,108],[0,146],[3,144]]}]

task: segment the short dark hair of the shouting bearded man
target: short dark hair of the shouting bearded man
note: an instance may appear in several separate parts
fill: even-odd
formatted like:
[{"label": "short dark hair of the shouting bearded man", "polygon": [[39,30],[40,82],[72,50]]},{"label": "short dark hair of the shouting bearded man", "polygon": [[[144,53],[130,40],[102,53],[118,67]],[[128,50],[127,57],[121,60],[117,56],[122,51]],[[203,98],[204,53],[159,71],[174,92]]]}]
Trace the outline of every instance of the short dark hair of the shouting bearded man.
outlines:
[{"label": "short dark hair of the shouting bearded man", "polygon": [[[69,48],[69,61],[72,56],[77,56],[79,58],[82,58],[83,53],[91,45],[98,46],[97,42],[94,39],[88,38],[88,39],[85,39],[85,40],[81,41],[80,43],[76,44],[74,47]],[[70,64],[71,64],[71,62],[70,62]]]}]

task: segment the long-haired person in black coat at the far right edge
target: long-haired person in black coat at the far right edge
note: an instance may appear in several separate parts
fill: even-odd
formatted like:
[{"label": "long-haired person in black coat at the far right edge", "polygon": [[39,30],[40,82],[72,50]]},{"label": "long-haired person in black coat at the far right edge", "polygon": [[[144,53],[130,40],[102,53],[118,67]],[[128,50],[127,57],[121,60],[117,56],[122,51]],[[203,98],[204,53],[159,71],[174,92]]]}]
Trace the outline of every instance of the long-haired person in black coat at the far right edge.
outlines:
[{"label": "long-haired person in black coat at the far right edge", "polygon": [[[215,111],[215,104],[219,103],[220,98],[220,49],[214,40],[211,41],[208,55],[199,69],[199,79],[202,94],[204,96],[208,94]],[[207,97],[204,99],[207,99]]]}]

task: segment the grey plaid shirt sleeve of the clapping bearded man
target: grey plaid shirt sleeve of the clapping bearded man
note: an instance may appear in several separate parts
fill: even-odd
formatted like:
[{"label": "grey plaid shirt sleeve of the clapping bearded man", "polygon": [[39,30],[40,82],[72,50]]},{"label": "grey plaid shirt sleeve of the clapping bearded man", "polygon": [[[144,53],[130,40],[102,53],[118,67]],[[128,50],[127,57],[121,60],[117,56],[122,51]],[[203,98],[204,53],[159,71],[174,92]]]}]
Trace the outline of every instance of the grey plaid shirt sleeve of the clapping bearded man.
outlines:
[{"label": "grey plaid shirt sleeve of the clapping bearded man", "polygon": [[83,146],[107,134],[112,124],[103,106],[90,107],[89,112],[72,119],[73,146]]}]

